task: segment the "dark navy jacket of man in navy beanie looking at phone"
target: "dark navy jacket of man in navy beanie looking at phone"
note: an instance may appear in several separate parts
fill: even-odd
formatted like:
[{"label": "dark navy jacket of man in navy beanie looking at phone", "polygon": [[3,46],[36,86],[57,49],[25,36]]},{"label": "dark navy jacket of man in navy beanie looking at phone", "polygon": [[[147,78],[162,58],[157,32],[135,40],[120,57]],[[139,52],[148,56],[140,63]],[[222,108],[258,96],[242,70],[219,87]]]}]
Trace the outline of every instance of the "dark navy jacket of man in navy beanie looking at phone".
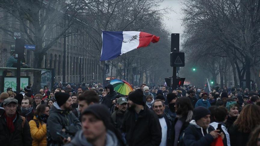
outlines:
[{"label": "dark navy jacket of man in navy beanie looking at phone", "polygon": [[[187,146],[208,146],[214,141],[212,135],[209,134],[213,130],[214,128],[210,125],[207,129],[202,129],[202,127],[197,125],[195,120],[191,120],[190,125],[185,129],[184,132],[184,144]],[[196,133],[193,131],[196,131]]]}]

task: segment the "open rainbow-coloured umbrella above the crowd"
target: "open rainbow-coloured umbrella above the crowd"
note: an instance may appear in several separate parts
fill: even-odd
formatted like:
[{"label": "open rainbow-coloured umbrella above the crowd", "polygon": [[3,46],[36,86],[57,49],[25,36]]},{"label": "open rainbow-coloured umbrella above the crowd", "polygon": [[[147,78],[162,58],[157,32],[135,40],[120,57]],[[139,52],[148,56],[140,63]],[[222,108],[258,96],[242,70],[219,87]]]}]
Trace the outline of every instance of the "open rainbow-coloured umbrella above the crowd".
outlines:
[{"label": "open rainbow-coloured umbrella above the crowd", "polygon": [[133,91],[131,85],[125,80],[114,79],[110,81],[113,85],[114,90],[122,95],[128,95],[129,92]]}]

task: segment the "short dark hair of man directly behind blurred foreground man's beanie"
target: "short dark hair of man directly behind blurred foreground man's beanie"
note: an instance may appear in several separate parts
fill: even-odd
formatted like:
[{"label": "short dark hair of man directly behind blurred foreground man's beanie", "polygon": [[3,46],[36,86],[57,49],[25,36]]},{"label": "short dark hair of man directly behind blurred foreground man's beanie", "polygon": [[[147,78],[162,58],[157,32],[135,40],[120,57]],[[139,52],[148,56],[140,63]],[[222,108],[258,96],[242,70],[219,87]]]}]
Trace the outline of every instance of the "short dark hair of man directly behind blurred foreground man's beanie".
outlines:
[{"label": "short dark hair of man directly behind blurred foreground man's beanie", "polygon": [[87,90],[85,92],[83,92],[79,98],[78,101],[83,101],[85,100],[85,102],[89,105],[91,102],[94,103],[99,103],[99,96],[96,93],[96,91],[94,90]]}]

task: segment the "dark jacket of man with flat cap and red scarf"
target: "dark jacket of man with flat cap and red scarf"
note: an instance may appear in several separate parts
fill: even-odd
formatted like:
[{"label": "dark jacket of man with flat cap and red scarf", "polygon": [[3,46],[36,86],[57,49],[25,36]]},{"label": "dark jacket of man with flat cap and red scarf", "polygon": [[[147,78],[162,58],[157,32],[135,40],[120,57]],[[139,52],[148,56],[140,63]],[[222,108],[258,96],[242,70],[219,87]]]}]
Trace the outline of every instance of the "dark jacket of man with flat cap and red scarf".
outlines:
[{"label": "dark jacket of man with flat cap and red scarf", "polygon": [[[25,119],[24,119],[25,120]],[[30,133],[30,127],[28,122],[25,120],[24,126],[22,127],[23,118],[16,112],[14,119],[13,133],[9,132],[6,124],[4,113],[0,117],[0,144],[1,146],[31,146],[32,138]]]}]

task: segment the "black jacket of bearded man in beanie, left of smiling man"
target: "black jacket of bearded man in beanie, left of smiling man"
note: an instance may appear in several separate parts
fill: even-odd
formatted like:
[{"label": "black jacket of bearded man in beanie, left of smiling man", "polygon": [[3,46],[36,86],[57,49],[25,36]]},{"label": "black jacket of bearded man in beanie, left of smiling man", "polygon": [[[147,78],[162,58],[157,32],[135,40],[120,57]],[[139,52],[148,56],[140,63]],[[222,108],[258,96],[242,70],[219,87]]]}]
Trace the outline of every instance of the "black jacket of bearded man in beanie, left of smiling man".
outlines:
[{"label": "black jacket of bearded man in beanie, left of smiling man", "polygon": [[[135,118],[137,119],[135,120]],[[158,146],[162,129],[157,115],[147,106],[139,114],[127,111],[121,126],[129,146]]]}]

